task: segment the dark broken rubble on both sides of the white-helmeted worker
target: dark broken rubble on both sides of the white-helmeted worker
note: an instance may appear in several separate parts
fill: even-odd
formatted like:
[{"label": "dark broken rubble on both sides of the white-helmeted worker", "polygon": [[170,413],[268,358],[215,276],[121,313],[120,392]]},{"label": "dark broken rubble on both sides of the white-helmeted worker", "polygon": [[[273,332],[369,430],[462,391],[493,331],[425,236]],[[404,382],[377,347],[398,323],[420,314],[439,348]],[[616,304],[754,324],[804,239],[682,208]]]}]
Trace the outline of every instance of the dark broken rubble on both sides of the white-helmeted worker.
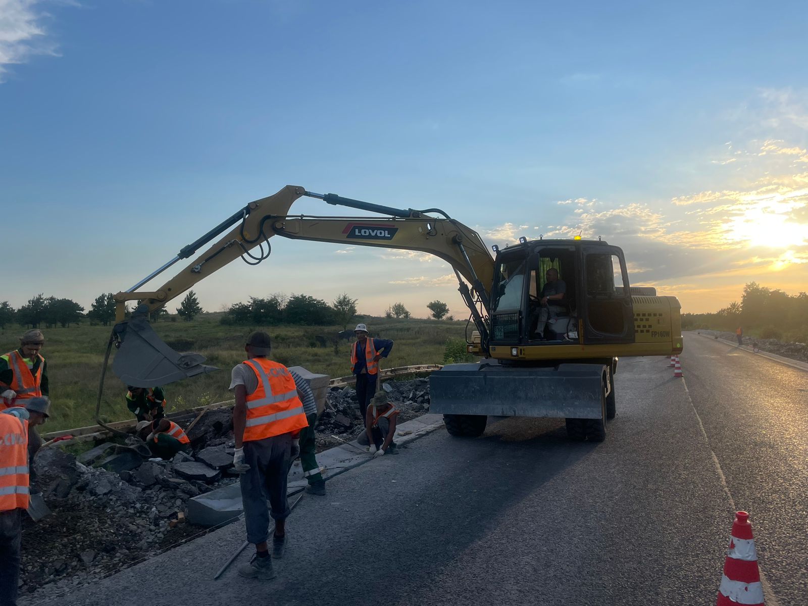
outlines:
[{"label": "dark broken rubble on both sides of the white-helmeted worker", "polygon": [[[401,413],[398,422],[403,423],[429,412],[429,380],[387,381],[382,384],[392,402]],[[364,430],[364,420],[360,414],[356,389],[352,387],[332,387],[326,397],[326,407],[318,419],[318,450],[340,444],[340,440],[351,441]]]}]

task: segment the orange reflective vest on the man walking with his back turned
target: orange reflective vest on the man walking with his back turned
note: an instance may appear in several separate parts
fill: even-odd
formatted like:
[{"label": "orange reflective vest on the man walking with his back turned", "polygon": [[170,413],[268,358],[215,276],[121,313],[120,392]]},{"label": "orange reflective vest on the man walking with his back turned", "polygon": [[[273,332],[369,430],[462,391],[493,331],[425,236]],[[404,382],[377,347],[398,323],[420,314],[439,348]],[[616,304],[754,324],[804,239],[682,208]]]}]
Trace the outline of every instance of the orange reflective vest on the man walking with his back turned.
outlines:
[{"label": "orange reflective vest on the man walking with his back turned", "polygon": [[267,358],[244,360],[244,364],[258,377],[258,388],[246,398],[245,442],[309,427],[303,402],[297,397],[297,385],[288,368]]}]

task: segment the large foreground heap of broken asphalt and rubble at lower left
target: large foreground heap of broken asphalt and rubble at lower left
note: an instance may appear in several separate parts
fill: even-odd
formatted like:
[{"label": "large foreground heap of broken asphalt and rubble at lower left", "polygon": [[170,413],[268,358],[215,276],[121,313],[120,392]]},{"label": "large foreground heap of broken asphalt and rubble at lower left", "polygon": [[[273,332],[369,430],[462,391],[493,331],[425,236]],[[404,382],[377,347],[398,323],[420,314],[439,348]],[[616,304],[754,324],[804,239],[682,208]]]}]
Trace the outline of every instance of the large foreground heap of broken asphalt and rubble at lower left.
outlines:
[{"label": "large foreground heap of broken asphalt and rubble at lower left", "polygon": [[21,597],[37,600],[148,558],[200,528],[183,524],[191,497],[236,482],[232,411],[211,410],[189,432],[193,456],[149,461],[144,444],[107,442],[74,457],[43,448],[35,488],[52,513],[25,521]]}]

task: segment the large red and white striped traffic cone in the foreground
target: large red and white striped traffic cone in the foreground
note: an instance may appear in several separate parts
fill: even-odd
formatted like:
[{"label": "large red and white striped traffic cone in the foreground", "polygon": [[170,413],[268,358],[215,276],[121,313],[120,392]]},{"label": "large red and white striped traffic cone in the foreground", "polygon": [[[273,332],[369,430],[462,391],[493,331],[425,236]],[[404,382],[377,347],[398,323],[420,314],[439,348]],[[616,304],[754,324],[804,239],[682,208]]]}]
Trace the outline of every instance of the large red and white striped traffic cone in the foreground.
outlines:
[{"label": "large red and white striped traffic cone in the foreground", "polygon": [[721,578],[721,587],[718,588],[716,606],[732,604],[764,606],[755,539],[752,537],[752,525],[746,511],[735,514],[730,549],[726,551],[724,575]]}]

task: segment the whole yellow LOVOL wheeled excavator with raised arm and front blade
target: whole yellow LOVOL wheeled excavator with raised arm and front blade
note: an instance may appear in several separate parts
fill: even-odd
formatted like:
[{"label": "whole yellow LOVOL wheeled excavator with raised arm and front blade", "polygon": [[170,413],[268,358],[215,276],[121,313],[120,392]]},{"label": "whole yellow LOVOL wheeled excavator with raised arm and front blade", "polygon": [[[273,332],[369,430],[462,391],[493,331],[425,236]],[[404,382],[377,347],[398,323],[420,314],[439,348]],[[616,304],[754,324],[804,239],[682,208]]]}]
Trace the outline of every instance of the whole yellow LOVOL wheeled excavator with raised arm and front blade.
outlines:
[{"label": "whole yellow LOVOL wheeled excavator with raised arm and front blade", "polygon": [[[289,214],[301,196],[382,217]],[[473,324],[471,335],[466,331],[468,351],[482,359],[448,364],[431,374],[430,410],[444,415],[452,436],[479,436],[494,415],[564,418],[570,438],[604,440],[607,421],[615,415],[618,357],[682,351],[679,301],[656,296],[654,288],[631,287],[617,246],[579,238],[520,238],[503,249],[492,246],[492,257],[473,229],[440,208],[391,208],[289,185],[250,202],[132,288],[116,293],[116,326],[104,368],[115,346],[112,368],[127,385],[165,385],[215,370],[199,354],[168,347],[149,326],[149,313],[239,257],[250,265],[267,259],[273,236],[419,250],[452,265]],[[216,238],[161,287],[141,290]],[[564,280],[566,294],[553,301],[558,304],[554,317],[538,322],[550,268]],[[138,304],[126,319],[128,301]]]}]

